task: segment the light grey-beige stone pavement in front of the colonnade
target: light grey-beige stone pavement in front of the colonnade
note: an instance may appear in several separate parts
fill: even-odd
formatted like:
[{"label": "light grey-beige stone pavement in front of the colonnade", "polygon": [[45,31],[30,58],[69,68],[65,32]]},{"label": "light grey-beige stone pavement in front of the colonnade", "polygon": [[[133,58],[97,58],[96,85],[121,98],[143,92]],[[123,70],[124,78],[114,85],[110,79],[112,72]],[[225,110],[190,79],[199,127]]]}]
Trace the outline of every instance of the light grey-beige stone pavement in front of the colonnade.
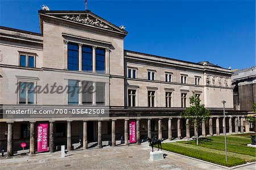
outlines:
[{"label": "light grey-beige stone pavement in front of the colonnade", "polygon": [[[144,143],[71,151],[64,158],[60,152],[19,156],[0,159],[0,169],[225,169],[170,152],[164,152],[166,159],[150,162],[150,151],[151,147]],[[236,169],[255,169],[255,164]]]}]

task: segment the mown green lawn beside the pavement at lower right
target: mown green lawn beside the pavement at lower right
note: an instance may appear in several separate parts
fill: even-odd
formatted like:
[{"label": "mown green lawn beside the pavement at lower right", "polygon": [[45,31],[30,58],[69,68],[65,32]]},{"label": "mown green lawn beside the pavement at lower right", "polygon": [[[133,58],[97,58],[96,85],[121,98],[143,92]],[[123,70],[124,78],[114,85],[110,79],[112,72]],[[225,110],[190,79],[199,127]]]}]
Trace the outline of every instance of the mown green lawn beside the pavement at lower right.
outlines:
[{"label": "mown green lawn beside the pavement at lower right", "polygon": [[195,140],[175,143],[163,143],[163,150],[176,152],[197,159],[209,161],[227,167],[245,164],[246,162],[256,161],[256,148],[247,147],[250,143],[250,135],[227,136],[228,162],[225,162],[224,136],[212,136],[206,140],[200,140],[196,146]]}]

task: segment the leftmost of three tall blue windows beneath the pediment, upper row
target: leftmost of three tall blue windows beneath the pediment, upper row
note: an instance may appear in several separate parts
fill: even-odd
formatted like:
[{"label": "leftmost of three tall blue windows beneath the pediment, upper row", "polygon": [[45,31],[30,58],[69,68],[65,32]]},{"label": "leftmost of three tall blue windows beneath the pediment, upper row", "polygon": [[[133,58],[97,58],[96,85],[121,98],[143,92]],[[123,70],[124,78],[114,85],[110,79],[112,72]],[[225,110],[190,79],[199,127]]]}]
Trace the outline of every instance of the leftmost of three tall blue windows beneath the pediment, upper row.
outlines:
[{"label": "leftmost of three tall blue windows beneath the pediment, upper row", "polygon": [[79,70],[79,45],[68,43],[68,70]]}]

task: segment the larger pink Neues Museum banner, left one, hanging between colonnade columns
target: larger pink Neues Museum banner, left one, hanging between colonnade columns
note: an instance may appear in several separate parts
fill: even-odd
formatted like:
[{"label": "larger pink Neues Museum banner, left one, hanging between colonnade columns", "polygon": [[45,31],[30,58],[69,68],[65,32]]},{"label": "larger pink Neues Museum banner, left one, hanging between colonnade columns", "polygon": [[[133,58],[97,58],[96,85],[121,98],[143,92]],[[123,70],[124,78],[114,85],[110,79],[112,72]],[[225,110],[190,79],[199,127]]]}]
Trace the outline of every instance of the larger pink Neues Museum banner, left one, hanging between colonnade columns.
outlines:
[{"label": "larger pink Neues Museum banner, left one, hanging between colonnade columns", "polygon": [[38,124],[38,152],[48,151],[48,123]]}]

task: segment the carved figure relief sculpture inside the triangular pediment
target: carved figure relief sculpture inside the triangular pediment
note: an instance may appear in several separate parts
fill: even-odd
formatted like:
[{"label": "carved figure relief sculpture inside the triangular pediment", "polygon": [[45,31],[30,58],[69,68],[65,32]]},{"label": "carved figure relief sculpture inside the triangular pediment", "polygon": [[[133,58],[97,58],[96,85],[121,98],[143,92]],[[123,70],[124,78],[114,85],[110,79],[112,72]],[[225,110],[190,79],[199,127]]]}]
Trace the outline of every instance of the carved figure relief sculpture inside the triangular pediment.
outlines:
[{"label": "carved figure relief sculpture inside the triangular pediment", "polygon": [[92,18],[88,14],[86,14],[86,16],[82,16],[82,15],[72,15],[72,16],[71,15],[65,15],[65,16],[61,16],[61,17],[65,18],[65,19],[73,20],[73,21],[76,21],[76,22],[80,22],[80,23],[84,23],[84,24],[90,24],[92,26],[106,28],[108,30],[113,30],[111,27],[107,26],[102,21],[100,21],[100,20],[98,20],[96,18]]}]

